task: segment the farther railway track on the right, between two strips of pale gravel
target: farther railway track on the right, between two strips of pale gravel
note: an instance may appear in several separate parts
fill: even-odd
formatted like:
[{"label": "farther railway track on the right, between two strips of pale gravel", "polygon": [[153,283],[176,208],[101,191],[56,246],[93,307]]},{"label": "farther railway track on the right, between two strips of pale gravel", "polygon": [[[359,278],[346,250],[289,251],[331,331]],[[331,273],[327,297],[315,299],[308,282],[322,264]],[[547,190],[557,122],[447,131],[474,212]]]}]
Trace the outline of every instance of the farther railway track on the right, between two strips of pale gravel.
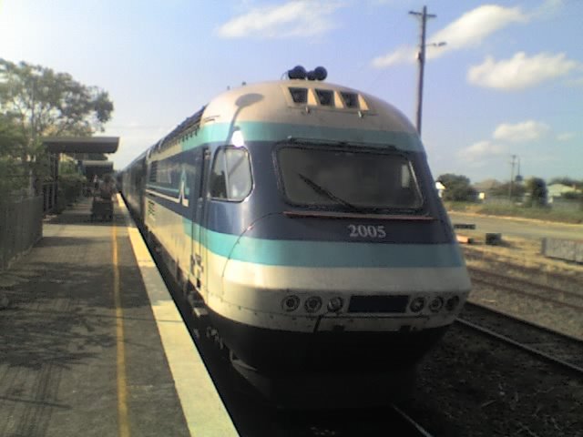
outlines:
[{"label": "farther railway track on the right, between two strips of pale gravel", "polygon": [[583,311],[583,295],[579,293],[538,284],[528,279],[509,277],[486,269],[468,267],[468,271],[472,282],[476,284],[496,287],[498,290],[505,290],[560,307]]}]

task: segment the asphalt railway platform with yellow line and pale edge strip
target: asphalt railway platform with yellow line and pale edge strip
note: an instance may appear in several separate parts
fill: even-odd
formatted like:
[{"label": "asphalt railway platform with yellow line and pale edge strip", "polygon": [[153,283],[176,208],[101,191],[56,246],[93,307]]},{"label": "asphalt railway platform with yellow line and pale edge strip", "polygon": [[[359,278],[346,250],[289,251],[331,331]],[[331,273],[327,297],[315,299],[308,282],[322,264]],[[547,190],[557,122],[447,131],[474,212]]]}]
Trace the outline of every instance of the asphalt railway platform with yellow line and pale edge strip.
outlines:
[{"label": "asphalt railway platform with yellow line and pale edge strip", "polygon": [[118,197],[46,220],[0,273],[0,435],[238,435]]}]

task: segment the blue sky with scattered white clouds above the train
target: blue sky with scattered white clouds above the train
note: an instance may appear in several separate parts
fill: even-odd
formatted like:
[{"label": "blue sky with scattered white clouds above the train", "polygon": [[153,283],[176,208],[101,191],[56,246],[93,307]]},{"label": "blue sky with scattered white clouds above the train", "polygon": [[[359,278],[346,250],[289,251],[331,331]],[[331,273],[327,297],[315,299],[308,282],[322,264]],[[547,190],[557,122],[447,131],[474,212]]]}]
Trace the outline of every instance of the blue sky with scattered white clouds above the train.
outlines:
[{"label": "blue sky with scattered white clouds above the train", "polygon": [[296,65],[414,122],[424,5],[434,177],[507,181],[515,155],[524,178],[583,179],[581,0],[0,0],[0,57],[106,90],[98,135],[120,137],[120,169],[228,87]]}]

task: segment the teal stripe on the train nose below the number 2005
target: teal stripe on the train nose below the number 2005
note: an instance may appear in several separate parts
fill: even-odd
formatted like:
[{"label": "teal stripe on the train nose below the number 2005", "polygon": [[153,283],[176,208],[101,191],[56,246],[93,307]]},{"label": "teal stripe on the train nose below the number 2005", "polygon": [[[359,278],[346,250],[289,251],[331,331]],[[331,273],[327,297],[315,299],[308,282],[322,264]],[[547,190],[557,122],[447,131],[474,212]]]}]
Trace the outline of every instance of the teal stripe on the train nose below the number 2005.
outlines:
[{"label": "teal stripe on the train nose below the number 2005", "polygon": [[[187,235],[190,221],[184,219]],[[195,235],[199,235],[195,224]],[[222,257],[288,267],[461,267],[455,244],[382,244],[344,241],[253,239],[207,230],[206,246]],[[234,246],[234,249],[233,249]],[[232,250],[232,252],[231,252]]]}]

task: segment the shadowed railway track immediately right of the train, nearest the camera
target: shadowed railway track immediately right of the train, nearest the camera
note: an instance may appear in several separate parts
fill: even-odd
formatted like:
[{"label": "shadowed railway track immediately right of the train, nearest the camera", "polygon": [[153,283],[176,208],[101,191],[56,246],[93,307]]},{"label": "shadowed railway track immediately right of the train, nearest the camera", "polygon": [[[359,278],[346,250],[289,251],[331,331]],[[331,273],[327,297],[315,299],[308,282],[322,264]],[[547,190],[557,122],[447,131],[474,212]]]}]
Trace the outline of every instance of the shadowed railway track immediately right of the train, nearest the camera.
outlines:
[{"label": "shadowed railway track immediately right of the train, nearest the camera", "polygon": [[465,304],[455,321],[465,328],[504,341],[543,361],[583,376],[581,340],[470,302]]}]

